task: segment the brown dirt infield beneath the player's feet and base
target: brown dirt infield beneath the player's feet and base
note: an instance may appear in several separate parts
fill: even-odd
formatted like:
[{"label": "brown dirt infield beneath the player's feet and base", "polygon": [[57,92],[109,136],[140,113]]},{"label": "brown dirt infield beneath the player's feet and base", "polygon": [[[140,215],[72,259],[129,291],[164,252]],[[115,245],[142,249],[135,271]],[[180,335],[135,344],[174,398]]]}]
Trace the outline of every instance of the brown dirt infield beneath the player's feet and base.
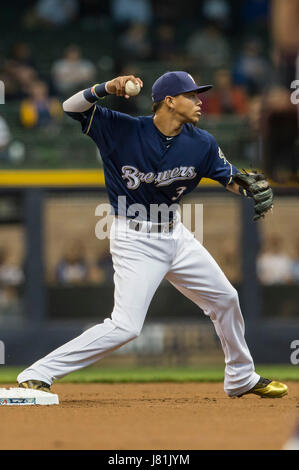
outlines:
[{"label": "brown dirt infield beneath the player's feet and base", "polygon": [[0,448],[281,449],[299,411],[287,383],[276,400],[228,398],[222,383],[55,384],[58,406],[0,407]]}]

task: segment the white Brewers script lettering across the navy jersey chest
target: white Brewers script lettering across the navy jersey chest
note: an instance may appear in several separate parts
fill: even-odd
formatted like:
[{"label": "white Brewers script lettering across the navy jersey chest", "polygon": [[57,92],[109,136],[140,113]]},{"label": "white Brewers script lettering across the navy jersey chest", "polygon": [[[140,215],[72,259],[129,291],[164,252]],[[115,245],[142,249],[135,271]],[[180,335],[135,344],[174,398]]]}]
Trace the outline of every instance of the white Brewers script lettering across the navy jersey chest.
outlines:
[{"label": "white Brewers script lettering across the navy jersey chest", "polygon": [[127,180],[127,188],[137,189],[140,183],[154,183],[156,186],[168,186],[174,181],[192,180],[197,173],[194,166],[180,166],[159,173],[143,173],[131,165],[122,167],[122,178]]}]

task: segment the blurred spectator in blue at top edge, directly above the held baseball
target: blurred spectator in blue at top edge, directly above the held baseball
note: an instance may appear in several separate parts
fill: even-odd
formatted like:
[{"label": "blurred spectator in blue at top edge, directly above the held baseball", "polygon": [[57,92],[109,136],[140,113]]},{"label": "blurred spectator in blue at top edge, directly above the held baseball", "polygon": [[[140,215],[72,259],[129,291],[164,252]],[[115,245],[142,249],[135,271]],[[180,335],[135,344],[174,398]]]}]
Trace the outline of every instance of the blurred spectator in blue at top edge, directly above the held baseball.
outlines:
[{"label": "blurred spectator in blue at top edge, directly above the held baseball", "polygon": [[152,20],[150,0],[112,0],[112,17],[116,23],[149,24]]}]

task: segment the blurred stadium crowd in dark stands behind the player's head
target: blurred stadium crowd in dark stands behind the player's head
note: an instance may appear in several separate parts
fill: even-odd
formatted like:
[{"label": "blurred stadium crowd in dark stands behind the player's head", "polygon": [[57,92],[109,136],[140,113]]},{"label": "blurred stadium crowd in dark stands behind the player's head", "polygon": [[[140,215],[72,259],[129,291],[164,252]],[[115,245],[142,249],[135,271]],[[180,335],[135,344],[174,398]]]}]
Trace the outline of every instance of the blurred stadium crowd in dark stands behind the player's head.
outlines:
[{"label": "blurred stadium crowd in dark stands behind the player's head", "polygon": [[[223,119],[235,118],[226,134],[236,135],[239,125],[256,144],[263,102],[283,101],[288,107],[297,54],[271,42],[272,4],[34,0],[22,2],[18,12],[7,7],[1,19],[4,30],[11,29],[0,51],[7,104],[6,114],[0,116],[0,162],[26,166],[26,145],[32,144],[26,130],[39,132],[35,141],[45,130],[44,139],[46,134],[65,146],[72,125],[63,116],[61,101],[95,82],[131,73],[141,76],[145,87],[140,97],[109,97],[105,105],[149,114],[152,83],[175,69],[188,70],[199,83],[213,83],[203,98],[206,118],[220,127]],[[38,150],[40,162],[30,158],[33,165],[42,166],[51,157],[43,160],[47,151],[42,145]],[[256,145],[247,146],[244,153],[245,161],[257,163]]]}]

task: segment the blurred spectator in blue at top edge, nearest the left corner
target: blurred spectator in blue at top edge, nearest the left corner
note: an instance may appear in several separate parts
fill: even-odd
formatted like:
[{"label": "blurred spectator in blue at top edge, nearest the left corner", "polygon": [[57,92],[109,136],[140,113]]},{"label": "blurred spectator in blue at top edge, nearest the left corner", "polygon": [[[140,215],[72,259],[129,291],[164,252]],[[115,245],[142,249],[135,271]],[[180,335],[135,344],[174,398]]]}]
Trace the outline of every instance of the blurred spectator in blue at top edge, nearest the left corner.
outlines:
[{"label": "blurred spectator in blue at top edge, nearest the left corner", "polygon": [[35,14],[38,23],[64,26],[76,19],[78,8],[78,0],[38,0]]}]

